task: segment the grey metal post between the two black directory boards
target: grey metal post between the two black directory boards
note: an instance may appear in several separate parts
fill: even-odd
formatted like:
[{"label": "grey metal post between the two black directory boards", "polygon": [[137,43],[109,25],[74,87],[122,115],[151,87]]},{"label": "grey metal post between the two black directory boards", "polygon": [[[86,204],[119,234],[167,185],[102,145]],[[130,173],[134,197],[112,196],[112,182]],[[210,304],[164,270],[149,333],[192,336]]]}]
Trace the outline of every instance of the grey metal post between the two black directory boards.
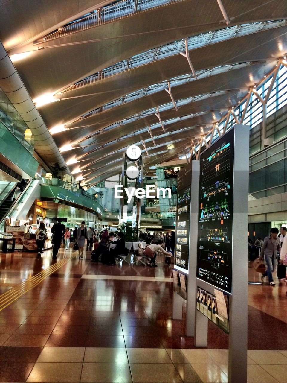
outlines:
[{"label": "grey metal post between the two black directory boards", "polygon": [[[199,161],[192,161],[191,170],[191,206],[189,226],[189,270],[186,295],[186,336],[194,336],[196,316],[196,252],[197,252],[197,220],[199,194]],[[204,317],[205,318],[205,317]]]}]

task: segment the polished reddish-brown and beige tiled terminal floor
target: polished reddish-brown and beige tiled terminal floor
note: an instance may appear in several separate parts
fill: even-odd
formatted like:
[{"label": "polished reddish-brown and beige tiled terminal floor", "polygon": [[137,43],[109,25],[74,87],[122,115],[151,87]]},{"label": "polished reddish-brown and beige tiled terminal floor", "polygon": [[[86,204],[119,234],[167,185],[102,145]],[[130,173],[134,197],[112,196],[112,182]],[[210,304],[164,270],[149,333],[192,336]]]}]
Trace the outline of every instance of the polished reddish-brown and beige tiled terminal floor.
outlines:
[{"label": "polished reddish-brown and beige tiled terminal floor", "polygon": [[[184,310],[171,319],[162,259],[103,266],[73,254],[1,254],[0,382],[227,382],[228,336],[209,321],[208,349],[194,348]],[[252,268],[249,281],[260,282]],[[287,382],[287,283],[276,284],[248,286],[249,383]]]}]

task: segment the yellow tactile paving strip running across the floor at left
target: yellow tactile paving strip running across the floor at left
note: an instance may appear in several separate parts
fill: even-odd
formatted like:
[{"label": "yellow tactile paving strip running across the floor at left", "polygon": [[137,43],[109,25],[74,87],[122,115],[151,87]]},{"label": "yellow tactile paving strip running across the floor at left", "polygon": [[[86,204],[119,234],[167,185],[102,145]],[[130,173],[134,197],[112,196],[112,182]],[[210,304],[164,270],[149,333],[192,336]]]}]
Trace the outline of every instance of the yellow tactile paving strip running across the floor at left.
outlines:
[{"label": "yellow tactile paving strip running across the floor at left", "polygon": [[75,258],[75,255],[76,254],[73,253],[69,257],[57,260],[55,264],[34,275],[34,277],[15,285],[13,288],[0,295],[0,311],[7,308],[7,306],[15,302],[28,291],[32,290],[35,286],[39,285],[39,283],[41,283],[45,278],[49,277],[49,275],[64,266],[69,260]]}]

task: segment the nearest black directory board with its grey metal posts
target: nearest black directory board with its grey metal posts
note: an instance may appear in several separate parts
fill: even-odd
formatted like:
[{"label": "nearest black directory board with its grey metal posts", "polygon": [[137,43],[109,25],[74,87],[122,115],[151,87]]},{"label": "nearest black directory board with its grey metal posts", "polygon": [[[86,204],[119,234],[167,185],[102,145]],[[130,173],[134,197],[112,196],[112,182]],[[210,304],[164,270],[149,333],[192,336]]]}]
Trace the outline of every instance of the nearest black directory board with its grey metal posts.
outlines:
[{"label": "nearest black directory board with its grey metal posts", "polygon": [[[249,126],[235,125],[207,150],[200,157],[197,286],[229,295],[228,382],[246,383]],[[197,310],[196,347],[207,346],[208,319],[203,317]]]}]

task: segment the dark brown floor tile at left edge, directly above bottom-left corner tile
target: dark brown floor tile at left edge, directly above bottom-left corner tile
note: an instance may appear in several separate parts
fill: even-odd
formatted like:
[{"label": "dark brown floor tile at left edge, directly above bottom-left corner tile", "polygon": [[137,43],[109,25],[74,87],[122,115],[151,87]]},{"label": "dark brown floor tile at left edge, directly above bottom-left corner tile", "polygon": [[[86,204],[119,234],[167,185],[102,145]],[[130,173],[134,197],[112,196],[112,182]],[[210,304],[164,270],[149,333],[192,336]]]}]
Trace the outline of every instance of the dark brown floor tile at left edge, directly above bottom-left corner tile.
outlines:
[{"label": "dark brown floor tile at left edge, directly above bottom-left corner tile", "polygon": [[1,347],[1,362],[36,362],[42,347]]}]

